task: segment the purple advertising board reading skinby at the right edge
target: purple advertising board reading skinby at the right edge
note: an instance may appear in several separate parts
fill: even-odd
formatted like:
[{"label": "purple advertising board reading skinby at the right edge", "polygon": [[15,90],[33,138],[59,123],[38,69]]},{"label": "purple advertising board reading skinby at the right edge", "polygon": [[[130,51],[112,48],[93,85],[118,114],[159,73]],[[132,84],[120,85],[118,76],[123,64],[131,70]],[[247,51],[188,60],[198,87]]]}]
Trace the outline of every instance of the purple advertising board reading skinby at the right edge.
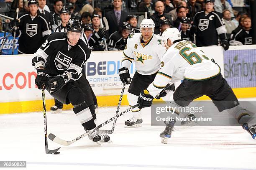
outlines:
[{"label": "purple advertising board reading skinby at the right edge", "polygon": [[224,76],[231,88],[256,86],[256,49],[224,51]]}]

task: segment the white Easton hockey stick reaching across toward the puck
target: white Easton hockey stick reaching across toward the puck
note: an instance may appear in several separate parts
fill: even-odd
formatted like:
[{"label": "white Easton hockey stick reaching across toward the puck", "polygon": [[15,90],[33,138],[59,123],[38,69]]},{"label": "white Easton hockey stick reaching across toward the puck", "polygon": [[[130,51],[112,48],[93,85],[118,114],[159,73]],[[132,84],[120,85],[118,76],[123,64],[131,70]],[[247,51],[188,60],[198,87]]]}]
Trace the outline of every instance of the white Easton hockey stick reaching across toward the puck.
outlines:
[{"label": "white Easton hockey stick reaching across toward the puck", "polygon": [[56,135],[50,133],[49,134],[49,139],[60,144],[60,145],[64,145],[64,146],[68,146],[68,145],[71,145],[72,143],[76,142],[77,140],[87,136],[88,134],[91,134],[92,132],[94,132],[95,130],[97,129],[100,129],[100,127],[104,126],[105,124],[108,124],[109,122],[112,122],[113,120],[117,119],[118,117],[122,116],[123,114],[131,111],[132,109],[134,109],[135,107],[137,107],[138,104],[134,105],[133,107],[129,107],[128,109],[124,110],[123,112],[121,113],[118,113],[117,115],[115,115],[114,117],[108,119],[107,121],[103,122],[102,124],[98,125],[97,127],[95,127],[94,129],[82,134],[81,136],[75,138],[74,140],[71,140],[71,141],[66,141],[66,140],[62,140],[60,139],[59,137],[56,137]]}]

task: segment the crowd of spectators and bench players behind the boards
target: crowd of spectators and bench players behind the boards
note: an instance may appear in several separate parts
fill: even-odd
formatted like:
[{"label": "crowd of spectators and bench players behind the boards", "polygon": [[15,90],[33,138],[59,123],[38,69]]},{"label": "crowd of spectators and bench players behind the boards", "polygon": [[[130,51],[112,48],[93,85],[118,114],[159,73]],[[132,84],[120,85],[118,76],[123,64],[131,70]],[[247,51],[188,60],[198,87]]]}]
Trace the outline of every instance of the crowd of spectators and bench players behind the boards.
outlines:
[{"label": "crowd of spectators and bench players behind the boards", "polygon": [[[37,31],[42,33],[41,40],[37,42],[38,46],[44,43],[49,33],[64,32],[65,20],[70,17],[78,17],[82,20],[85,39],[87,39],[87,45],[92,51],[124,50],[128,36],[140,32],[139,23],[145,17],[154,21],[155,34],[161,36],[166,28],[176,27],[180,30],[182,39],[196,43],[200,41],[197,38],[203,33],[202,31],[212,27],[209,23],[208,25],[202,23],[202,20],[206,20],[202,19],[206,16],[206,12],[202,16],[199,15],[201,11],[207,11],[205,6],[211,2],[214,4],[215,18],[221,18],[223,25],[225,25],[225,37],[221,37],[221,33],[223,33],[223,29],[220,30],[221,25],[215,24],[213,27],[214,30],[217,30],[215,31],[216,34],[212,33],[212,35],[206,36],[215,36],[213,39],[218,40],[218,42],[216,41],[216,43],[211,38],[205,38],[203,41],[211,42],[196,43],[197,46],[221,45],[225,48],[229,44],[252,44],[250,14],[245,8],[241,8],[240,11],[235,10],[231,0],[97,0],[94,2],[92,0],[1,0],[0,2],[0,13],[11,18],[16,18],[16,9],[19,8],[18,18],[21,20],[21,25],[10,19],[0,18],[1,32],[10,32],[13,26],[20,27],[20,32],[17,31],[16,37],[23,33],[28,33],[27,38],[34,36],[33,28],[31,28],[31,32],[21,30],[23,22],[26,23],[26,21],[22,21],[22,18],[25,18],[23,16],[26,13],[30,15],[35,13],[32,6],[38,6],[36,16],[40,15],[44,18],[39,18],[38,24],[46,22],[40,26],[41,30],[38,26]],[[103,2],[106,4],[105,6],[102,5]],[[248,2],[245,1],[246,3]],[[29,17],[29,15],[27,16]],[[108,21],[108,30],[102,18],[104,16]],[[33,21],[33,15],[31,18]],[[24,43],[23,41],[19,41],[19,45]],[[29,43],[32,44],[35,41],[28,41],[26,45]],[[19,52],[33,53],[33,50],[22,50],[24,51]]]}]

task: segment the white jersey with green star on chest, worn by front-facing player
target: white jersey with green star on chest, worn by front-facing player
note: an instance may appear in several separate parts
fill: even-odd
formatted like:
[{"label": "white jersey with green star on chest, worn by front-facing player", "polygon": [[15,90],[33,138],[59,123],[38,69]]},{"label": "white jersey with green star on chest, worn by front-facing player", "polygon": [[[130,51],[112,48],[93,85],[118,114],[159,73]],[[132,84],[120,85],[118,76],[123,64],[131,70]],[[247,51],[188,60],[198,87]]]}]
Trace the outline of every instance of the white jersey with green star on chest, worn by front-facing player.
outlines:
[{"label": "white jersey with green star on chest, worn by front-facing player", "polygon": [[151,75],[159,71],[161,58],[166,48],[161,45],[161,37],[153,34],[147,43],[141,43],[141,33],[128,37],[127,45],[123,51],[122,67],[130,68],[134,62],[139,74]]}]

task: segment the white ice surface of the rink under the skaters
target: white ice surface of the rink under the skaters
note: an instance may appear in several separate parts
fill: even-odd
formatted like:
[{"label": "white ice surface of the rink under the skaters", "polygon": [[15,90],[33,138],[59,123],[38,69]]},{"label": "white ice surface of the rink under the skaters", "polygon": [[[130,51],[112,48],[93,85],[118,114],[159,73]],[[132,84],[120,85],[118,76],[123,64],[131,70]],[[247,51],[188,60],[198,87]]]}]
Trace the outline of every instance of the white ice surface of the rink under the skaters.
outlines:
[{"label": "white ice surface of the rink under the skaters", "polygon": [[[120,111],[126,108],[121,107]],[[98,121],[113,117],[115,109],[100,108]],[[174,131],[165,145],[159,138],[164,127],[150,125],[150,109],[143,110],[142,127],[124,128],[124,121],[130,117],[127,113],[118,119],[111,143],[98,146],[84,137],[61,146],[48,140],[49,149],[61,147],[61,153],[47,155],[42,112],[0,114],[0,161],[27,161],[26,169],[31,170],[256,170],[256,140],[240,126]],[[102,129],[111,127],[112,123]],[[61,114],[47,112],[47,128],[48,134],[64,140],[84,133],[71,110]]]}]

